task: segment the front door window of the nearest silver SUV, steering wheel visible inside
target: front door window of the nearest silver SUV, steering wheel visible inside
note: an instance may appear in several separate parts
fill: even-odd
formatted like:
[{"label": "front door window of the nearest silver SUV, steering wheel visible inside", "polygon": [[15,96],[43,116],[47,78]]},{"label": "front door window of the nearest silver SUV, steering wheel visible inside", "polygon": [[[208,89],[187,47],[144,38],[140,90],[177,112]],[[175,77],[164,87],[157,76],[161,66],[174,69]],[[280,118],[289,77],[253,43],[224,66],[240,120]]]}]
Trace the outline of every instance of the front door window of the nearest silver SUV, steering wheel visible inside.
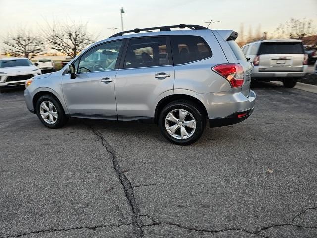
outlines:
[{"label": "front door window of the nearest silver SUV, steering wheel visible inside", "polygon": [[122,41],[98,45],[80,58],[78,73],[97,72],[115,69]]}]

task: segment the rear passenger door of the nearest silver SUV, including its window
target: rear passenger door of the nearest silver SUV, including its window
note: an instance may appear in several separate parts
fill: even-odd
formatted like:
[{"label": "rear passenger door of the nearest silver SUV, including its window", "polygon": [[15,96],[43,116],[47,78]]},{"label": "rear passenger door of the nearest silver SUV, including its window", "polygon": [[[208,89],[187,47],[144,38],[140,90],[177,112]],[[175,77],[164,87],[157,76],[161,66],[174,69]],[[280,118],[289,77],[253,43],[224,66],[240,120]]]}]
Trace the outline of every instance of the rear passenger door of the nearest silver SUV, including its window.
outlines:
[{"label": "rear passenger door of the nearest silver SUV, including its window", "polygon": [[173,94],[174,67],[167,39],[128,40],[115,78],[118,120],[154,117],[159,100]]}]

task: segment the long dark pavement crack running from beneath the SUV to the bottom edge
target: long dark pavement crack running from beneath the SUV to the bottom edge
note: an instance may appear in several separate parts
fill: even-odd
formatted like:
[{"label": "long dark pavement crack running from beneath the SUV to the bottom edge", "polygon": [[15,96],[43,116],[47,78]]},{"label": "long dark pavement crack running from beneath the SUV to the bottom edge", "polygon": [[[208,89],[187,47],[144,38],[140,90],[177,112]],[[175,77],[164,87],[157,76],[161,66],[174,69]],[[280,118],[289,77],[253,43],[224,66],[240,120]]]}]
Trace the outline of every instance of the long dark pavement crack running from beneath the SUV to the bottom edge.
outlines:
[{"label": "long dark pavement crack running from beneath the SUV to the bottom edge", "polygon": [[122,168],[117,160],[116,154],[114,149],[109,145],[109,143],[106,141],[106,139],[100,134],[98,133],[91,125],[89,125],[89,127],[91,128],[92,132],[100,139],[101,144],[106,148],[106,151],[111,155],[112,157],[112,165],[113,165],[113,169],[117,175],[117,177],[120,180],[120,183],[123,187],[124,190],[124,194],[126,196],[126,199],[129,202],[131,211],[132,211],[132,225],[136,226],[138,228],[138,236],[140,238],[143,238],[143,229],[142,226],[140,224],[139,218],[138,218],[138,214],[140,214],[140,209],[137,205],[135,196],[134,196],[134,191],[133,191],[133,187],[129,181],[129,179],[127,179],[127,177],[124,175]]}]

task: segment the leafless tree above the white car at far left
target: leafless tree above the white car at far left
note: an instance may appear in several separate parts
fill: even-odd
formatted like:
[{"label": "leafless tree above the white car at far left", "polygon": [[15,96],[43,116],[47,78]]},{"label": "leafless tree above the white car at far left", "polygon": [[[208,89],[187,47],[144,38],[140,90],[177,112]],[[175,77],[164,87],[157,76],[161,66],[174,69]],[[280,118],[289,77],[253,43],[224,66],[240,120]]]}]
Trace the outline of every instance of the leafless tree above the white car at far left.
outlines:
[{"label": "leafless tree above the white car at far left", "polygon": [[3,43],[4,53],[11,56],[32,59],[45,51],[45,44],[41,37],[22,29],[19,29],[16,34],[8,35]]}]

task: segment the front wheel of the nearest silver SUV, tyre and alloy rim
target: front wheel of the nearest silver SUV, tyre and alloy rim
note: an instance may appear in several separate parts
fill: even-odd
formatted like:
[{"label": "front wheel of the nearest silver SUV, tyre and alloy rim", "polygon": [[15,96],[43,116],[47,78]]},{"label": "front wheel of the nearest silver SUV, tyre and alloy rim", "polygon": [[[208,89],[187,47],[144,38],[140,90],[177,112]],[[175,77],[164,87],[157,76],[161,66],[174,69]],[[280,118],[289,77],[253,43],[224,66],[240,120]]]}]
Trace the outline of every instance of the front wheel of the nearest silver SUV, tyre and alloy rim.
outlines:
[{"label": "front wheel of the nearest silver SUV, tyre and alloy rim", "polygon": [[68,121],[63,107],[51,95],[41,96],[36,103],[36,110],[40,121],[48,128],[60,128]]}]

